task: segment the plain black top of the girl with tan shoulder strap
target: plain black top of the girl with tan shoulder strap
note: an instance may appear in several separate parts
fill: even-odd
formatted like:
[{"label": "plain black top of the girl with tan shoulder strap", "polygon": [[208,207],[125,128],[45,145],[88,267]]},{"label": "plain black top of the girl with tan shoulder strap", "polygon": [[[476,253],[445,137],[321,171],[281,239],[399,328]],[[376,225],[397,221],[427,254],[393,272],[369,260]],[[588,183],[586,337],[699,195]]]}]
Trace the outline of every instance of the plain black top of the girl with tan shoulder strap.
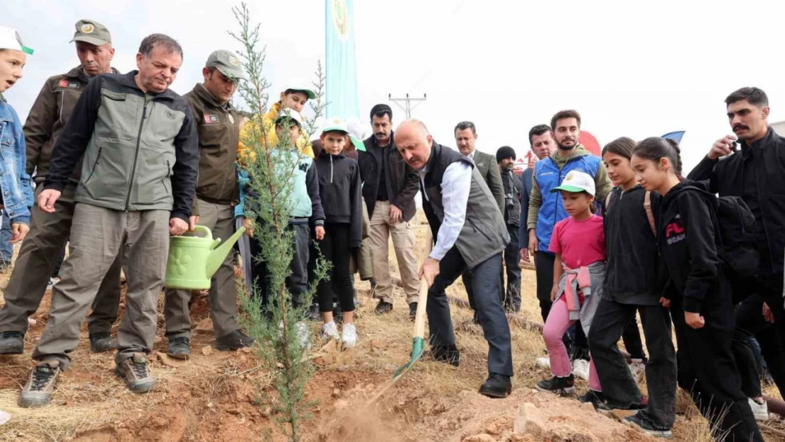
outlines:
[{"label": "plain black top of the girl with tan shoulder strap", "polygon": [[[643,206],[645,199],[646,190],[640,185],[626,192],[617,187],[604,207],[608,271],[602,296],[619,304],[659,305],[663,291],[657,276],[657,240]],[[662,197],[652,192],[649,200],[652,213],[658,214]]]}]

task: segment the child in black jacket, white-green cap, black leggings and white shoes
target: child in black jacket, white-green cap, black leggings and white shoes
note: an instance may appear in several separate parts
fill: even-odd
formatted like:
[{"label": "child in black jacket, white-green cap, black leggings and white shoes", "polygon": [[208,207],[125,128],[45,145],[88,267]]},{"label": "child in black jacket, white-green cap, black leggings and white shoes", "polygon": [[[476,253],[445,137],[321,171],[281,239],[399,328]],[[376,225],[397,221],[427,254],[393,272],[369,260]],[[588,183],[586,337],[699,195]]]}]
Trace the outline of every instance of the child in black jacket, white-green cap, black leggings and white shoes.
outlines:
[{"label": "child in black jacket, white-green cap, black leggings and white shoes", "polygon": [[[360,249],[363,235],[362,186],[360,166],[343,155],[349,143],[349,130],[340,119],[327,122],[322,131],[323,151],[316,158],[319,193],[324,208],[325,235],[320,248],[333,265],[330,279],[319,282],[319,310],[322,312],[322,338],[340,341],[347,348],[357,344],[354,326],[354,294],[349,258]],[[333,320],[333,295],[338,293],[343,312],[343,334]]]}]

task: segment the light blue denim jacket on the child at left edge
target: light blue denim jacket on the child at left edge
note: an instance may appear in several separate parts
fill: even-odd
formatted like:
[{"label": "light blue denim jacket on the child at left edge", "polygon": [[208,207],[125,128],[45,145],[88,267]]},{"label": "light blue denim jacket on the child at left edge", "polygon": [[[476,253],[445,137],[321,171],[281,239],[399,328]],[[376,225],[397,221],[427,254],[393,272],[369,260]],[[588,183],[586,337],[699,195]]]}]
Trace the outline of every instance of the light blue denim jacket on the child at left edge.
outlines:
[{"label": "light blue denim jacket on the child at left edge", "polygon": [[5,212],[13,224],[30,224],[33,188],[25,163],[22,122],[12,107],[0,100],[0,188]]}]

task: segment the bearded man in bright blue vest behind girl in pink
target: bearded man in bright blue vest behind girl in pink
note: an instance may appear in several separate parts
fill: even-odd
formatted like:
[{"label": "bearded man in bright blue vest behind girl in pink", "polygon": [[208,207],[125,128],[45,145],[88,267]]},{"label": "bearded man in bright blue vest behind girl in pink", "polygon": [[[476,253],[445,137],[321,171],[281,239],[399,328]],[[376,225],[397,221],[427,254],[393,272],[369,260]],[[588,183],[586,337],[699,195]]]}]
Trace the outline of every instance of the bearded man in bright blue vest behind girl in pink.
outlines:
[{"label": "bearded man in bright blue vest behind girl in pink", "polygon": [[[543,321],[550,312],[553,262],[556,261],[556,255],[548,251],[550,238],[553,234],[553,226],[568,217],[561,203],[561,195],[558,192],[550,192],[551,189],[559,186],[571,170],[578,170],[594,177],[594,186],[597,189],[595,201],[604,201],[613,188],[602,159],[591,155],[578,142],[581,131],[581,115],[578,111],[557,112],[550,120],[550,126],[553,128],[553,140],[556,141],[557,149],[550,157],[542,159],[535,165],[526,223],[529,236],[528,251],[535,259],[537,298],[540,301]],[[576,331],[582,333],[580,327],[576,327]],[[576,352],[577,349],[572,349],[572,356],[576,356]],[[588,353],[588,345],[583,353]],[[588,354],[577,356],[587,358]],[[576,374],[581,378],[585,374],[588,378],[588,365],[587,362],[581,363],[580,370],[576,370]]]}]

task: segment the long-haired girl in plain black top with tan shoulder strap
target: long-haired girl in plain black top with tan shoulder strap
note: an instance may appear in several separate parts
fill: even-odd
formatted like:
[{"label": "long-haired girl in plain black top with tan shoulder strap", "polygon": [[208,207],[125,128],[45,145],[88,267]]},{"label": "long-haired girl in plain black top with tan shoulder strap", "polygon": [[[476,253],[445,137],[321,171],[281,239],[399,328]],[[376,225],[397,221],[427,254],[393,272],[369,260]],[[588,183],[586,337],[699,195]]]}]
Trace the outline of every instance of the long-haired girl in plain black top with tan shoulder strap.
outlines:
[{"label": "long-haired girl in plain black top with tan shoulder strap", "polygon": [[[604,202],[603,220],[608,271],[600,305],[589,332],[589,349],[604,389],[597,393],[604,405],[638,409],[630,422],[655,437],[670,438],[676,418],[676,353],[670,312],[660,298],[662,283],[656,269],[655,216],[660,195],[641,187],[630,165],[636,142],[627,137],[606,145],[602,159],[615,188]],[[648,405],[627,370],[616,345],[628,327],[637,332],[641,313],[651,359],[646,363]],[[627,343],[625,342],[625,345]]]}]

